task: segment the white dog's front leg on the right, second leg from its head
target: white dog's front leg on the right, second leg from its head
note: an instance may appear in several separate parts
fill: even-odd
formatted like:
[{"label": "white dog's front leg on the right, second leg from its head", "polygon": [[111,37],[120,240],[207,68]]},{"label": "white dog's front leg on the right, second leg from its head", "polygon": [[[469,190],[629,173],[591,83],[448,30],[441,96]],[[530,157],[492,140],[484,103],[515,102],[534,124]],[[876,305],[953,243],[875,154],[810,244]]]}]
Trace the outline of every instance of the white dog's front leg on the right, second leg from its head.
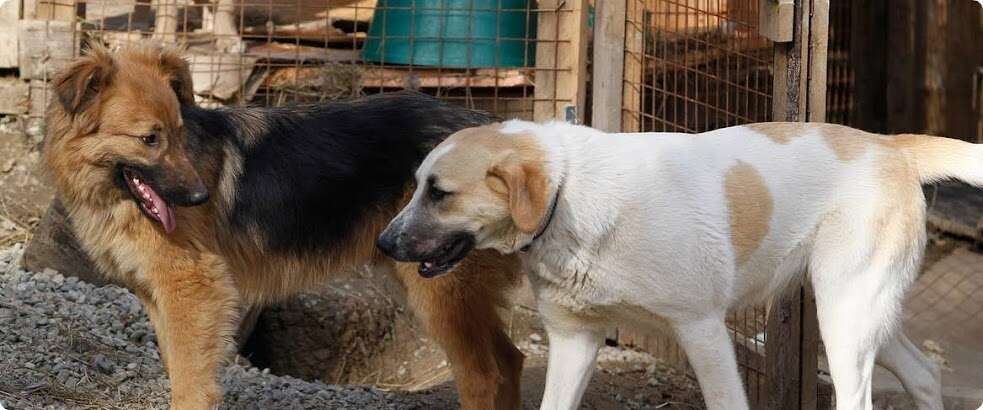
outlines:
[{"label": "white dog's front leg on the right, second leg from its head", "polygon": [[709,410],[747,409],[747,394],[737,372],[734,344],[723,314],[698,321],[676,323],[676,335],[696,372]]}]

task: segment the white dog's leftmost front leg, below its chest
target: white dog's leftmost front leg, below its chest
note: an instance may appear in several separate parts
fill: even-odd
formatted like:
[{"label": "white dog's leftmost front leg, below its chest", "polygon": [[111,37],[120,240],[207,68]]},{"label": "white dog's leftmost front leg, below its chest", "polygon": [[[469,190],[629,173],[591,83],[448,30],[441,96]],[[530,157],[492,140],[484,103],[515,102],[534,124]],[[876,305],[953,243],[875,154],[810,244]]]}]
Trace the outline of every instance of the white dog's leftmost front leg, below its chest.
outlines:
[{"label": "white dog's leftmost front leg, below its chest", "polygon": [[550,357],[541,410],[576,409],[590,382],[604,335],[594,329],[546,327]]}]

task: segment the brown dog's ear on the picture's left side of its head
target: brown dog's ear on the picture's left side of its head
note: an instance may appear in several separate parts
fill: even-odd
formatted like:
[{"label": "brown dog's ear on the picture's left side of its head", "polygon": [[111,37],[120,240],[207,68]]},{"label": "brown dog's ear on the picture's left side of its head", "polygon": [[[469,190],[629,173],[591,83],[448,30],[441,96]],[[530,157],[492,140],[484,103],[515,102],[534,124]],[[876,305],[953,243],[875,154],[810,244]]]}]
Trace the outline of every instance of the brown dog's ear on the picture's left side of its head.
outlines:
[{"label": "brown dog's ear on the picture's left side of its head", "polygon": [[69,115],[77,116],[90,108],[115,72],[113,58],[105,48],[91,49],[88,55],[65,68],[52,81],[58,103]]}]

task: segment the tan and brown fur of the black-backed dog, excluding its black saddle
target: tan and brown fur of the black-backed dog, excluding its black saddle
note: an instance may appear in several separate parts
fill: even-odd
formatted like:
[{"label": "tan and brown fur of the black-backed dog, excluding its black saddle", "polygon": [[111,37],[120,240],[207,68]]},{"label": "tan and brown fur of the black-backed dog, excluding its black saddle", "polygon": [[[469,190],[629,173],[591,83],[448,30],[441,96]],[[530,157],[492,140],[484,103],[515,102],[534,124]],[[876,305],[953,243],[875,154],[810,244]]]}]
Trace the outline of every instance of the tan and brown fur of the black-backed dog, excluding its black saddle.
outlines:
[{"label": "tan and brown fur of the black-backed dog, excluding its black saddle", "polygon": [[[101,271],[140,298],[150,316],[171,379],[172,408],[208,409],[221,401],[217,373],[234,346],[245,307],[367,264],[392,270],[405,285],[450,358],[464,408],[518,408],[522,354],[496,313],[503,292],[517,281],[515,258],[476,253],[454,275],[430,280],[419,277],[415,265],[382,258],[375,238],[405,200],[366,216],[348,246],[316,257],[276,254],[265,248],[258,230],[241,235],[216,223],[230,212],[235,195],[233,184],[219,181],[241,172],[242,159],[226,153],[225,163],[188,161],[179,114],[179,100],[190,90],[186,74],[187,65],[168,51],[132,48],[113,56],[95,48],[55,80],[56,93],[66,98],[49,107],[44,149],[80,243]],[[149,127],[160,128],[163,136],[159,154],[133,137]],[[115,157],[200,176],[212,200],[176,208],[177,229],[165,234],[113,184]]]}]

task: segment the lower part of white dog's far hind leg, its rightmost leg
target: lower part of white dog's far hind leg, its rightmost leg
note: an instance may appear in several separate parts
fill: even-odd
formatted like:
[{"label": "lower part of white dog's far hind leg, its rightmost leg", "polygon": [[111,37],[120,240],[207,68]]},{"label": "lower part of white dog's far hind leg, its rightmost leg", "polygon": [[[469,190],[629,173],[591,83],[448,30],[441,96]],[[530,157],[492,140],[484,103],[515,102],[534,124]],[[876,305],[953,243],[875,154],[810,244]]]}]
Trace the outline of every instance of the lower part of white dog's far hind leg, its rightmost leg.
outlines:
[{"label": "lower part of white dog's far hind leg, its rightmost leg", "polygon": [[942,371],[900,329],[877,353],[877,364],[901,380],[920,410],[942,410]]}]

